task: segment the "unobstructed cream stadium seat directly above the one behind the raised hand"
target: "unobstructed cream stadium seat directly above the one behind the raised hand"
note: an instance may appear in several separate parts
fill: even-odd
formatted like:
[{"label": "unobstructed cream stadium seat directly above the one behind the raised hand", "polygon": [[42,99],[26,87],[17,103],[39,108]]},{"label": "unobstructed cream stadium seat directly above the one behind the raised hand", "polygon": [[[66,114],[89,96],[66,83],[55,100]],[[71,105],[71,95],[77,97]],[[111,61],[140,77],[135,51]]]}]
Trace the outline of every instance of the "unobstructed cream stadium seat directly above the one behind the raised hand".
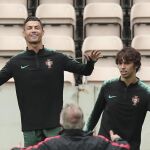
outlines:
[{"label": "unobstructed cream stadium seat directly above the one behind the raised hand", "polygon": [[90,3],[83,12],[84,37],[116,35],[121,37],[123,11],[115,3]]}]

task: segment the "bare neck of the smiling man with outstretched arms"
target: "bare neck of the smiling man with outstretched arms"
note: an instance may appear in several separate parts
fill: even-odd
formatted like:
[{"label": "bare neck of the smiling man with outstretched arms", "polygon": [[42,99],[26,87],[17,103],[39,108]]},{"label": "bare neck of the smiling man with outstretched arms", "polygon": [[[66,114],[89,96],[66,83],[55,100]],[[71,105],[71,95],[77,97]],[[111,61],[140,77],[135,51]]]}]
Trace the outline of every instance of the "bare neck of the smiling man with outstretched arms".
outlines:
[{"label": "bare neck of the smiling man with outstretched arms", "polygon": [[43,48],[43,44],[42,43],[27,43],[27,47],[29,50],[33,50],[35,53],[38,53],[40,49]]}]

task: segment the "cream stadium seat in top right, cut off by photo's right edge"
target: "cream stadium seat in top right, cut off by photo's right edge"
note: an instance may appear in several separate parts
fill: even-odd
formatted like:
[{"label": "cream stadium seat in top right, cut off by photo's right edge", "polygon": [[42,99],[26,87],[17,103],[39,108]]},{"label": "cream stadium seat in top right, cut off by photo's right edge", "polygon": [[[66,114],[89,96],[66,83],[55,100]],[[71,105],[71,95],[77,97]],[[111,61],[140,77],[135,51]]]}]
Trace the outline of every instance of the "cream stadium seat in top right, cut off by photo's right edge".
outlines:
[{"label": "cream stadium seat in top right, cut off by photo's right edge", "polygon": [[136,3],[131,8],[132,38],[141,34],[150,34],[150,3]]}]

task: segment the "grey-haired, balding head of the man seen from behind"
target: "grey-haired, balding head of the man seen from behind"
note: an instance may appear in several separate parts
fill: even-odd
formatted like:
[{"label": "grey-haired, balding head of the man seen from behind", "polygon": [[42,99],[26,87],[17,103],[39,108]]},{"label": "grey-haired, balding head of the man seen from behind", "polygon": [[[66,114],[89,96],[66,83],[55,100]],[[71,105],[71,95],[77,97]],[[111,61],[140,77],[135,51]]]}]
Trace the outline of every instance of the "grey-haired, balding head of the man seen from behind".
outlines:
[{"label": "grey-haired, balding head of the man seen from behind", "polygon": [[76,104],[66,104],[60,114],[60,124],[64,129],[82,129],[84,126],[83,111]]}]

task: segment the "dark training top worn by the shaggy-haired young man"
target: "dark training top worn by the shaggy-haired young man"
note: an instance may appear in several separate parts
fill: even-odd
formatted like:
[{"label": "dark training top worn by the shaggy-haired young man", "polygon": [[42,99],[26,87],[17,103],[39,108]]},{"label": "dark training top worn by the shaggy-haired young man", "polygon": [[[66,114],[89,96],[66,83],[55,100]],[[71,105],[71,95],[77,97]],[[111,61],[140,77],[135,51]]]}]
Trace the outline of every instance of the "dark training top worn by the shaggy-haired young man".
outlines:
[{"label": "dark training top worn by the shaggy-haired young man", "polygon": [[93,130],[101,113],[99,133],[109,137],[113,130],[139,150],[141,130],[147,111],[150,110],[150,88],[141,81],[126,86],[120,79],[106,81],[87,124]]}]

